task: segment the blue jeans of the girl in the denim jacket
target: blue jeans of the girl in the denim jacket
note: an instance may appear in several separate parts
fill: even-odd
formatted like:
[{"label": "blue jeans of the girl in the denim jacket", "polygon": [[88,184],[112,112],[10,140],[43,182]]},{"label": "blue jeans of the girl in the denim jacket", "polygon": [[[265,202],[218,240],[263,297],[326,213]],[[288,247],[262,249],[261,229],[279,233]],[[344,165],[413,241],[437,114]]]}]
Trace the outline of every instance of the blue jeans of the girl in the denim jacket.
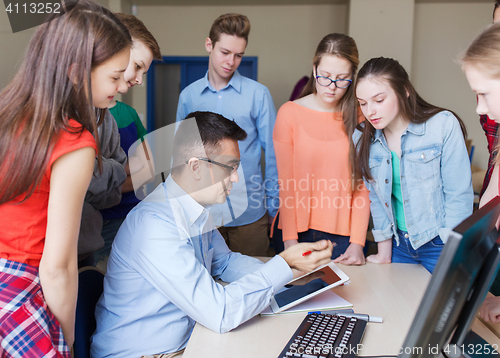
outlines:
[{"label": "blue jeans of the girl in the denim jacket", "polygon": [[431,241],[415,250],[410,243],[408,233],[398,229],[399,246],[396,239],[392,239],[392,262],[405,264],[421,264],[432,273],[443,251],[444,243],[436,236]]}]

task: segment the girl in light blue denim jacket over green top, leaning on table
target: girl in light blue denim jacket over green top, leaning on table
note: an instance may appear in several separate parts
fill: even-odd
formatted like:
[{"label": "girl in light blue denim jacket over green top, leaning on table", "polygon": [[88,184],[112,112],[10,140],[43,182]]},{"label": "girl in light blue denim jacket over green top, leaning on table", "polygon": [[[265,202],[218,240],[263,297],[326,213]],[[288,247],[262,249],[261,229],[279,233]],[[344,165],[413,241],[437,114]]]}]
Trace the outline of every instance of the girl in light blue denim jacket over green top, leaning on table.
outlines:
[{"label": "girl in light blue denim jacket over green top, leaning on table", "polygon": [[378,243],[367,261],[420,263],[432,272],[449,231],[472,213],[465,126],[424,101],[394,59],[369,60],[356,97],[367,119],[354,134],[356,175],[370,191]]}]

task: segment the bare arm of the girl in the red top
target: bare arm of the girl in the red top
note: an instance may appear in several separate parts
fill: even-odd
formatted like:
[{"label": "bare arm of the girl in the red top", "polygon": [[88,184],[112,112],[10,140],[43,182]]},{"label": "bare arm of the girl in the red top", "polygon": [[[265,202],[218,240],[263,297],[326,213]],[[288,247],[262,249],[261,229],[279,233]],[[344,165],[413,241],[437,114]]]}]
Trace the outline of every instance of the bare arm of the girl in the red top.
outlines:
[{"label": "bare arm of the girl in the red top", "polygon": [[78,290],[78,232],[94,157],[93,148],[81,148],[59,157],[51,168],[47,231],[39,275],[45,301],[70,347],[74,341]]}]

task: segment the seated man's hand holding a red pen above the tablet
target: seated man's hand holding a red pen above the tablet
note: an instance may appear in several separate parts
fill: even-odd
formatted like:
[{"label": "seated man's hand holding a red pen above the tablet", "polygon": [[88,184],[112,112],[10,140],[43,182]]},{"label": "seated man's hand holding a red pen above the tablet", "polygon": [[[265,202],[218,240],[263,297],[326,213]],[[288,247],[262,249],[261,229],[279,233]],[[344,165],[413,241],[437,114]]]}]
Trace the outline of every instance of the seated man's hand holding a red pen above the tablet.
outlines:
[{"label": "seated man's hand holding a red pen above the tablet", "polygon": [[[301,242],[293,245],[279,255],[287,262],[288,266],[303,272],[310,272],[316,267],[331,262],[333,244],[330,240],[318,242]],[[304,252],[311,251],[309,255]]]}]

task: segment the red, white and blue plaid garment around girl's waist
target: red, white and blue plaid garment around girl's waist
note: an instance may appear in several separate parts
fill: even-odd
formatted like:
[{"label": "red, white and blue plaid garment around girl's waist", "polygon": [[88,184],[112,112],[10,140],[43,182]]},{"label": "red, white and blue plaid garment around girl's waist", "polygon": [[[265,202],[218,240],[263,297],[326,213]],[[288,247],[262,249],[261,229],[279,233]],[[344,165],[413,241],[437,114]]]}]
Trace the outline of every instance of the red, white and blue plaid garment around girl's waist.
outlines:
[{"label": "red, white and blue plaid garment around girl's waist", "polygon": [[38,268],[1,258],[0,357],[71,357],[44,300]]}]

